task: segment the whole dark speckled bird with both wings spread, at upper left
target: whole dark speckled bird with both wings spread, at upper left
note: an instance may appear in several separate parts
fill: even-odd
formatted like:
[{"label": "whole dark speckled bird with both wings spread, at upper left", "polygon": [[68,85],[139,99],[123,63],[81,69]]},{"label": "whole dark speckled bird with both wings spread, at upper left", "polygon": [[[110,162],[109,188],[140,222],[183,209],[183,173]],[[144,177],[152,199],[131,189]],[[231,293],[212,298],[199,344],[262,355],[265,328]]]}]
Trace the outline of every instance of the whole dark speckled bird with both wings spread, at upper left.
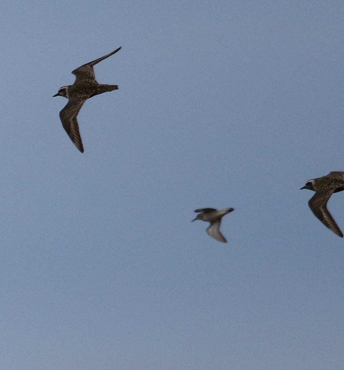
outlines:
[{"label": "whole dark speckled bird with both wings spread, at upper left", "polygon": [[92,62],[81,65],[76,68],[72,73],[75,75],[75,81],[73,85],[62,86],[59,88],[55,96],[63,96],[69,101],[66,106],[60,111],[60,120],[62,122],[63,128],[66,130],[68,136],[79,149],[80,152],[84,152],[84,148],[81,141],[81,136],[79,132],[79,125],[77,124],[77,114],[80,108],[89,98],[95,95],[102,94],[106,91],[117,90],[117,85],[102,85],[97,83],[95,78],[95,73],[93,71],[93,66],[102,60],[110,57],[117,53],[121,47],[112,51],[112,53],[106,54]]}]

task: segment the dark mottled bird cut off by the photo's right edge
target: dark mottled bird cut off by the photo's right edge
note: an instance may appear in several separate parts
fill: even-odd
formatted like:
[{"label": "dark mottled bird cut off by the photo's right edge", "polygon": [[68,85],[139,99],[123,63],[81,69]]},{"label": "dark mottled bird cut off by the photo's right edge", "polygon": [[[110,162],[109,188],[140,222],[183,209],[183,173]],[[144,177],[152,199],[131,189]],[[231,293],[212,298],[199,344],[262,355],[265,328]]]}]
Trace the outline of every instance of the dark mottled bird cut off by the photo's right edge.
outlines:
[{"label": "dark mottled bird cut off by the photo's right edge", "polygon": [[308,180],[301,189],[315,191],[315,194],[308,201],[311,211],[325,226],[343,238],[343,233],[331,213],[328,212],[327,202],[333,193],[344,190],[344,172],[333,171],[326,176]]}]

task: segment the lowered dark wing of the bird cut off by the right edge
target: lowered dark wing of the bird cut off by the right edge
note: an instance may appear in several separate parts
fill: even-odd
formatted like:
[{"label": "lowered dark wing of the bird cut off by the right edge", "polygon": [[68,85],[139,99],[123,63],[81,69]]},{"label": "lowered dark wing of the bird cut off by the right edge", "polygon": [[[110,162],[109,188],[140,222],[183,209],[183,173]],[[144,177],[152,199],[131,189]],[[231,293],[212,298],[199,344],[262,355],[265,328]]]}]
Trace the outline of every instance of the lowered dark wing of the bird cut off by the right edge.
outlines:
[{"label": "lowered dark wing of the bird cut off by the right edge", "polygon": [[333,189],[317,191],[308,201],[308,205],[310,206],[310,209],[314,213],[315,217],[317,217],[331,231],[343,238],[343,233],[327,209],[327,202],[332,194]]}]

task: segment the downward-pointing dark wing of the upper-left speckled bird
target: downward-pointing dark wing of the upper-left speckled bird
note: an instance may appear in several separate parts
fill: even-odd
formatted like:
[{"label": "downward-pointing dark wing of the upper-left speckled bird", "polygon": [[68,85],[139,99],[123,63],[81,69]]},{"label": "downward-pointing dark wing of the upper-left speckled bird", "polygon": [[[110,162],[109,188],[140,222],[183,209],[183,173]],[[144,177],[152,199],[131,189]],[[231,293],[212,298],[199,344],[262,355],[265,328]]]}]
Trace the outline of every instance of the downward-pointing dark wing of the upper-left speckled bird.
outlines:
[{"label": "downward-pointing dark wing of the upper-left speckled bird", "polygon": [[84,104],[85,100],[69,100],[66,106],[60,111],[60,120],[63,128],[66,130],[68,136],[73,141],[80,152],[84,152],[79,132],[79,125],[77,124],[77,114]]}]

